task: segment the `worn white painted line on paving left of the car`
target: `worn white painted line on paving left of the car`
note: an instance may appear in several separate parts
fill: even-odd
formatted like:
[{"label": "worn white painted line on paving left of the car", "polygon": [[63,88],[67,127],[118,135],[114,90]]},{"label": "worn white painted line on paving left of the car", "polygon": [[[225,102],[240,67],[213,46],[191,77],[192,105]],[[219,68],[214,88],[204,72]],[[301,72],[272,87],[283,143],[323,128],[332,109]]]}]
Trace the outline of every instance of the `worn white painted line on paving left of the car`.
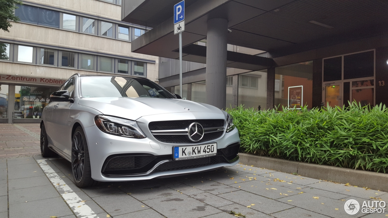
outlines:
[{"label": "worn white painted line on paving left of the car", "polygon": [[87,205],[82,202],[82,199],[67,185],[62,178],[55,173],[55,171],[46,162],[47,159],[36,160],[40,168],[49,178],[50,182],[54,185],[55,189],[58,190],[62,198],[69,205],[71,210],[74,211],[79,218],[99,218],[97,214]]}]

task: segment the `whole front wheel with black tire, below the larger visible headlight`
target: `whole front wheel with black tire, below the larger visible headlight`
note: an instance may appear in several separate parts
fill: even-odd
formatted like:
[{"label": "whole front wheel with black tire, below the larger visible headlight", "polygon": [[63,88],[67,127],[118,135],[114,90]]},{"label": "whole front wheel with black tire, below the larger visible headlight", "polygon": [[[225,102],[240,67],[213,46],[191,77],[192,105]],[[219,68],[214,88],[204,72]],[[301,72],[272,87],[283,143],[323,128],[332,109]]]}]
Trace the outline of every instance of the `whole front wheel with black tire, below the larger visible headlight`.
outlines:
[{"label": "whole front wheel with black tire, below the larger visible headlight", "polygon": [[89,149],[81,126],[75,129],[71,140],[71,172],[74,183],[80,188],[97,184],[97,181],[92,179]]}]

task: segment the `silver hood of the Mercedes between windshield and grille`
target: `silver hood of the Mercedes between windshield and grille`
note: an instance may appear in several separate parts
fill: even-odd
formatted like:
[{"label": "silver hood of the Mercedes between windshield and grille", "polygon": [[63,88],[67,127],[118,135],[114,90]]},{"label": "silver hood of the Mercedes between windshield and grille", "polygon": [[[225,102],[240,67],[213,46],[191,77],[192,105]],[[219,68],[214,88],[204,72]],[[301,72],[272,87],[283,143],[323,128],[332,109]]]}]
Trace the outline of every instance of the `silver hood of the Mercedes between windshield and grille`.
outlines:
[{"label": "silver hood of the Mercedes between windshield and grille", "polygon": [[217,107],[184,99],[101,97],[83,98],[78,100],[78,104],[92,107],[104,115],[132,120],[137,120],[142,116],[180,112],[223,114]]}]

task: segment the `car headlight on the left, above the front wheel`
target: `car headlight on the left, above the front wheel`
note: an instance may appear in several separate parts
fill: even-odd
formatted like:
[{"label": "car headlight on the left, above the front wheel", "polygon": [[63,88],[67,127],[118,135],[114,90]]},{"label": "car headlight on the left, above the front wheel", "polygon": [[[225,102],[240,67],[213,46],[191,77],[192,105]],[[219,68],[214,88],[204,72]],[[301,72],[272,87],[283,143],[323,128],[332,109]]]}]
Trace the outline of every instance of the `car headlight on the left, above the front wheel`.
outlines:
[{"label": "car headlight on the left, above the front wheel", "polygon": [[98,115],[94,118],[97,127],[108,134],[129,138],[145,138],[136,121],[112,116]]}]

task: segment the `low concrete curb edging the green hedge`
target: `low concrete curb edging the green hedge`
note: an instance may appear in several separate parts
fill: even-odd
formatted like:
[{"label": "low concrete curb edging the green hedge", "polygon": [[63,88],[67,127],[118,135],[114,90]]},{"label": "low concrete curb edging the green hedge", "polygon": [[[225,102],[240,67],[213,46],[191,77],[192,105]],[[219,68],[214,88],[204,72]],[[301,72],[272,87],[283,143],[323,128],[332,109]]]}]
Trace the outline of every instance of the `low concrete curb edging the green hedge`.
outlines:
[{"label": "low concrete curb edging the green hedge", "polygon": [[353,170],[336,166],[326,166],[297,161],[288,161],[272,157],[239,153],[240,162],[246,165],[263,167],[284,173],[340,183],[350,183],[358,187],[368,187],[374,190],[388,192],[388,173],[376,173],[364,170]]}]

